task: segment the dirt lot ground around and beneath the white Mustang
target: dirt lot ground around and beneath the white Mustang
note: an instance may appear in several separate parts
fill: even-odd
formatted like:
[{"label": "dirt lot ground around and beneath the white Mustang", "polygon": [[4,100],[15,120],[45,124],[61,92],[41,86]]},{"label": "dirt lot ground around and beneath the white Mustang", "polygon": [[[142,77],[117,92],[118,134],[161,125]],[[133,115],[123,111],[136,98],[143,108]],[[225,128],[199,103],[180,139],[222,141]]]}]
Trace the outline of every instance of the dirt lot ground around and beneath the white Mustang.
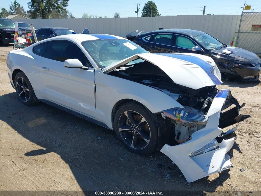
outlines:
[{"label": "dirt lot ground around and beneath the white Mustang", "polygon": [[261,191],[260,83],[218,86],[246,102],[242,113],[251,118],[238,126],[229,152],[234,167],[188,184],[160,152],[133,154],[106,128],[44,103],[23,105],[7,75],[9,50],[0,47],[0,190]]}]

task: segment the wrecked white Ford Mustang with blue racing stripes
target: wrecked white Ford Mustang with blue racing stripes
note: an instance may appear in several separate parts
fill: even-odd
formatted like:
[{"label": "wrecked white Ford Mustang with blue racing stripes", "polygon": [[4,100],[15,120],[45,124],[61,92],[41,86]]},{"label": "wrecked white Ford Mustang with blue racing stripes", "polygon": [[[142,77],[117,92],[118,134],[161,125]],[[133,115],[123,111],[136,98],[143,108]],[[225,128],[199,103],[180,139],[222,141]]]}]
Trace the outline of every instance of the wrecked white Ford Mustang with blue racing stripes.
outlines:
[{"label": "wrecked white Ford Mustang with blue racing stripes", "polygon": [[216,89],[221,74],[210,57],[150,54],[117,36],[49,38],[12,50],[7,66],[25,105],[46,102],[114,129],[137,154],[160,150],[189,182],[231,166],[237,126],[222,128],[249,117],[228,89]]}]

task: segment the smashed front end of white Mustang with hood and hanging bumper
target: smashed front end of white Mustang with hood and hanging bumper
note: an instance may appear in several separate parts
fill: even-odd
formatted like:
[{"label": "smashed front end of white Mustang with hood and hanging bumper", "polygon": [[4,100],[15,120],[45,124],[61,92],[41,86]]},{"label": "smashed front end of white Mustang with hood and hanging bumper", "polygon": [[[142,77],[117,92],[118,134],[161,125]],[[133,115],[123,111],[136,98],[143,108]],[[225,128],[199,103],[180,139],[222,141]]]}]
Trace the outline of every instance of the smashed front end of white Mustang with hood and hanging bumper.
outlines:
[{"label": "smashed front end of white Mustang with hood and hanging bumper", "polygon": [[[137,54],[102,71],[158,89],[173,99],[177,107],[162,109],[152,118],[158,126],[158,149],[177,164],[188,182],[232,165],[227,152],[236,139],[237,126],[228,132],[222,128],[250,116],[240,114],[245,104],[239,105],[229,89],[216,88],[222,81],[213,59]],[[158,100],[157,94],[150,96]]]}]

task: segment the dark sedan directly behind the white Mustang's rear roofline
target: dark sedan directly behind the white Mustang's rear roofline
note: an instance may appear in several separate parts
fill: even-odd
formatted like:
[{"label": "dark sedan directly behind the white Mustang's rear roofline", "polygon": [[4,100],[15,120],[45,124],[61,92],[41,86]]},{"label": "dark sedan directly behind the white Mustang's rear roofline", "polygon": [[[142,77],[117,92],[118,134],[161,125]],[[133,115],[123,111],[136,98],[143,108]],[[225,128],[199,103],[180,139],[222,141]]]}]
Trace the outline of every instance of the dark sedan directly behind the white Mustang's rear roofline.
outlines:
[{"label": "dark sedan directly behind the white Mustang's rear roofline", "polygon": [[[46,27],[46,28],[39,28],[36,30],[36,37],[38,41],[50,38],[50,37],[56,37],[59,35],[68,35],[68,34],[76,34],[72,29],[69,28],[63,28],[63,27]],[[34,41],[33,36],[31,37]]]}]

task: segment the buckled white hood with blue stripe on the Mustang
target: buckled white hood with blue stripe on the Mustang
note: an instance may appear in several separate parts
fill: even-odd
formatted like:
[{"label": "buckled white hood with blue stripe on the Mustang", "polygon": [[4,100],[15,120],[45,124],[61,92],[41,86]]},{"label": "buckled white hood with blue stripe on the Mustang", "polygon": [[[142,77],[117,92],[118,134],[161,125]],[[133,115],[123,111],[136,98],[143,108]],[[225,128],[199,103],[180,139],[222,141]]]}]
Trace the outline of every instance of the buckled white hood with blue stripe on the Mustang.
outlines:
[{"label": "buckled white hood with blue stripe on the Mustang", "polygon": [[[190,53],[144,53],[123,59],[102,69],[111,71],[135,59],[144,59],[164,71],[173,82],[192,89],[222,84],[221,74],[210,57]],[[211,63],[211,64],[210,64]]]}]

